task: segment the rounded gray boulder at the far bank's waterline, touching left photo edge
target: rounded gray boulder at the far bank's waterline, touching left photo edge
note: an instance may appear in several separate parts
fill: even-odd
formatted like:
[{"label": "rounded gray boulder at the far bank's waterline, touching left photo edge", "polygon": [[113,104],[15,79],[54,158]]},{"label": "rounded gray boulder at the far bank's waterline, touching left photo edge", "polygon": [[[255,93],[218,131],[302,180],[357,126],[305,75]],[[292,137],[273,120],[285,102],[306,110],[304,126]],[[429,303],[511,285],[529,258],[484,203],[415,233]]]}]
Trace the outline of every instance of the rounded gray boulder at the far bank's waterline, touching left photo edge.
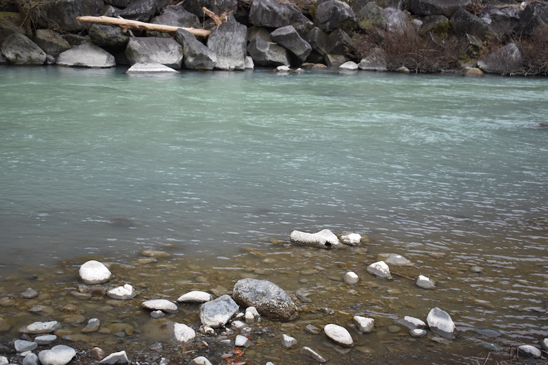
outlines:
[{"label": "rounded gray boulder at the far bank's waterline, touching left photo edge", "polygon": [[23,34],[13,33],[0,45],[0,52],[10,64],[40,65],[47,55],[36,43]]}]

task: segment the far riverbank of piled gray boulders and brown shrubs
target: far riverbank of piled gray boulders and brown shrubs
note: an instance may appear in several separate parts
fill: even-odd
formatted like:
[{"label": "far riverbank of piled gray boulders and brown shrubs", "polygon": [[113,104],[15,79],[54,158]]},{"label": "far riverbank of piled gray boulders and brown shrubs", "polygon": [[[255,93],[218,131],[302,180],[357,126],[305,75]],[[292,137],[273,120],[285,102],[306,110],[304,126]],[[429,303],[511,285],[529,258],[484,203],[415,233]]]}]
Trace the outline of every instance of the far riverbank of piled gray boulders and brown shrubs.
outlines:
[{"label": "far riverbank of piled gray boulders and brown shrubs", "polygon": [[[15,0],[0,10],[0,64],[227,71],[344,64],[366,71],[548,74],[548,4],[539,1],[210,0],[197,6],[95,0],[68,6]],[[92,23],[77,20],[100,15]],[[140,25],[108,24],[120,18]]]}]

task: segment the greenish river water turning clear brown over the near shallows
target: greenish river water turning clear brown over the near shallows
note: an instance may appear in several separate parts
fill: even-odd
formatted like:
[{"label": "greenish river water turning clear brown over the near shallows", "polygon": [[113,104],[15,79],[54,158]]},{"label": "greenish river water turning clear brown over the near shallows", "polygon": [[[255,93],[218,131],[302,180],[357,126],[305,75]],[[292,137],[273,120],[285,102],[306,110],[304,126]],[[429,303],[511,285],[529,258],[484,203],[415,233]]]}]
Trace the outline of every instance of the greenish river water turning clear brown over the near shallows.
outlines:
[{"label": "greenish river water turning clear brown over the near shallows", "polygon": [[[130,318],[136,331],[124,346],[141,349],[163,333],[141,299],[198,287],[224,294],[248,276],[297,293],[302,305],[297,323],[268,323],[273,336],[257,336],[257,363],[279,353],[286,331],[333,352],[304,325],[349,326],[355,314],[374,317],[378,329],[353,333],[356,348],[332,363],[412,349],[483,363],[482,342],[506,351],[548,336],[545,79],[123,71],[3,67],[3,298],[32,286],[54,293],[41,301],[56,311],[74,302],[97,316],[106,299],[67,294],[77,290],[77,266],[97,257],[113,262],[113,285],[142,291],[120,305],[126,314],[101,314],[105,323]],[[371,243],[337,251],[271,243],[325,228]],[[140,264],[143,249],[172,256]],[[427,275],[436,290],[371,277],[366,266],[384,252],[408,257],[414,266],[393,270]],[[356,286],[343,284],[348,270],[360,276]],[[0,333],[6,340],[38,320],[23,314],[32,303],[17,303],[0,306],[0,315],[18,313]],[[386,331],[436,306],[460,327],[451,344]],[[176,319],[197,316],[190,308]],[[123,341],[101,336],[92,339]]]}]

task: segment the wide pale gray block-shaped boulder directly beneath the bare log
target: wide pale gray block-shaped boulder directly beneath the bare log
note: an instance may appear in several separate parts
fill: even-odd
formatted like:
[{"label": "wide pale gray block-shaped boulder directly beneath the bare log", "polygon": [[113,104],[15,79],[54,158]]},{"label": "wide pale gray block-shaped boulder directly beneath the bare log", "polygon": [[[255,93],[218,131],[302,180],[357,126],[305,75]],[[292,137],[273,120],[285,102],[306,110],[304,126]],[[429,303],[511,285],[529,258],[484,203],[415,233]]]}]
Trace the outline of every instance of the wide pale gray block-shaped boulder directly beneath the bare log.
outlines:
[{"label": "wide pale gray block-shaped boulder directly beneath the bare log", "polygon": [[165,64],[171,68],[181,68],[183,47],[171,38],[134,37],[129,38],[125,55],[129,64]]}]

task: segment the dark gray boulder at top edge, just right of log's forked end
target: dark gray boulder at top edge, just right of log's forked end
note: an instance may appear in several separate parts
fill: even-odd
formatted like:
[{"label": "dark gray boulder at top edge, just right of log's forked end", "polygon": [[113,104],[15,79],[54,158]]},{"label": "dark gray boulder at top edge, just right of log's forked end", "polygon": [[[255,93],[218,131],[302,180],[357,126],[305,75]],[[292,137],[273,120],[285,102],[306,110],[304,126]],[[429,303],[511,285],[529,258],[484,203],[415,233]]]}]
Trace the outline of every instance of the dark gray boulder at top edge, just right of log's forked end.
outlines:
[{"label": "dark gray boulder at top edge, just right of log's forked end", "polygon": [[249,23],[262,27],[281,28],[292,25],[303,35],[314,27],[310,19],[288,3],[275,0],[253,0],[249,9]]}]

